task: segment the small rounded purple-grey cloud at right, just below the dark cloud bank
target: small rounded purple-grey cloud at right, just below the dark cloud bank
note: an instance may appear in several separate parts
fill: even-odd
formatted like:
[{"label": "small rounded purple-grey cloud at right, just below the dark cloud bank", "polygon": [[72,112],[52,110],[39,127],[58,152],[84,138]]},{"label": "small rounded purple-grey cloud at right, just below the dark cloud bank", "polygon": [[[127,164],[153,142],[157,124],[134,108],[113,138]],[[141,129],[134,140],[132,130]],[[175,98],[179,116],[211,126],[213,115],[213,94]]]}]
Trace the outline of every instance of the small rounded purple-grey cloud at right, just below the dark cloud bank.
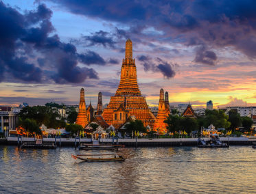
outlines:
[{"label": "small rounded purple-grey cloud at right, just below the dark cloud bank", "polygon": [[217,55],[213,51],[207,51],[205,46],[201,46],[196,51],[196,57],[195,57],[194,61],[196,63],[214,66],[214,65],[216,65]]}]

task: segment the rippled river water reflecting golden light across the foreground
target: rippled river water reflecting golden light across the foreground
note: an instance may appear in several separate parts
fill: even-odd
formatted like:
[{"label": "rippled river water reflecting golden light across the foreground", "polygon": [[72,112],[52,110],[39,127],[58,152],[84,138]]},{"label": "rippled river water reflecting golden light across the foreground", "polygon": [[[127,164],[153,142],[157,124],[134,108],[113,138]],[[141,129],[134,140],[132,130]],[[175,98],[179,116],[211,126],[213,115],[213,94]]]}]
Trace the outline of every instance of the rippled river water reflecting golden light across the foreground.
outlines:
[{"label": "rippled river water reflecting golden light across the foreground", "polygon": [[85,163],[74,148],[0,146],[0,193],[256,193],[256,150],[122,148],[124,162]]}]

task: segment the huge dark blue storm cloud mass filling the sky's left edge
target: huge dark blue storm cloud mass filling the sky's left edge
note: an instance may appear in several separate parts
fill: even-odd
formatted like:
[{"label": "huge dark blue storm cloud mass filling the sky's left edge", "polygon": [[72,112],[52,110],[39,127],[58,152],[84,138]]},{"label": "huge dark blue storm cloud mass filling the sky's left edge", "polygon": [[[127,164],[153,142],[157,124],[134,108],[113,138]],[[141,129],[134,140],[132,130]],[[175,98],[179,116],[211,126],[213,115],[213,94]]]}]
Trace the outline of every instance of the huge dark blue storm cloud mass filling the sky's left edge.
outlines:
[{"label": "huge dark blue storm cloud mass filling the sky's left edge", "polygon": [[81,83],[98,79],[93,68],[81,68],[78,61],[104,65],[104,59],[93,51],[77,53],[73,44],[51,35],[52,12],[44,4],[21,14],[0,1],[0,12],[0,81]]}]

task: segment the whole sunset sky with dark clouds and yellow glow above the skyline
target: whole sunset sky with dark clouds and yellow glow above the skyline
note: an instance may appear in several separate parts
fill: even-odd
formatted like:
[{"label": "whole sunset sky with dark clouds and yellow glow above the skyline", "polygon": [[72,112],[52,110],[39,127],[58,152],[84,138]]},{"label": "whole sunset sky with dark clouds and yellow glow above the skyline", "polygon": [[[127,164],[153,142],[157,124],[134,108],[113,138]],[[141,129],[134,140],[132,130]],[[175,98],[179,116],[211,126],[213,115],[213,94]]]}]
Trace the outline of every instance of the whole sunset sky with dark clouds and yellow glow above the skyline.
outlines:
[{"label": "whole sunset sky with dark clouds and yellow glow above the skyline", "polygon": [[132,40],[141,94],[156,106],[256,105],[256,1],[0,1],[0,105],[86,104],[119,84]]}]

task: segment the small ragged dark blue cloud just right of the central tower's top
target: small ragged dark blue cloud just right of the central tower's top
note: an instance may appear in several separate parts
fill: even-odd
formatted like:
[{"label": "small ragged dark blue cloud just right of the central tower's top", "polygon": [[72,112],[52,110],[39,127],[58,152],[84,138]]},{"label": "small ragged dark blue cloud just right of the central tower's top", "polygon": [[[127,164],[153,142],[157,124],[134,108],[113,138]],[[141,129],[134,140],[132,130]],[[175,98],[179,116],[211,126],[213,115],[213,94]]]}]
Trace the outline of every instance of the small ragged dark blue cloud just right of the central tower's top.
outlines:
[{"label": "small ragged dark blue cloud just right of the central tower's top", "polygon": [[167,79],[174,77],[176,74],[174,68],[175,66],[178,66],[178,64],[168,63],[159,57],[153,61],[149,56],[146,55],[140,55],[137,58],[139,61],[141,61],[141,64],[143,65],[143,68],[146,72],[161,72],[163,77]]}]

